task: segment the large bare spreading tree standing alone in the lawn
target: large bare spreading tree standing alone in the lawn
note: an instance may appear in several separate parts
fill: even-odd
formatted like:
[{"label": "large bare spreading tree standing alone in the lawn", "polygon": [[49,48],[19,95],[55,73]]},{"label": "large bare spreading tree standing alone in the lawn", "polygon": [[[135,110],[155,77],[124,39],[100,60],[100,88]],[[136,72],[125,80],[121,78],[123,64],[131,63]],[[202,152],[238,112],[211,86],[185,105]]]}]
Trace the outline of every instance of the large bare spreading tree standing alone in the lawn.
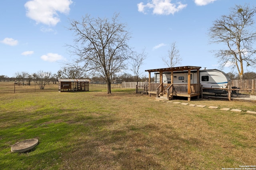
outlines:
[{"label": "large bare spreading tree standing alone in the lawn", "polygon": [[69,65],[104,78],[108,94],[111,94],[114,74],[126,69],[125,61],[130,57],[127,44],[130,33],[126,31],[126,25],[119,23],[118,14],[114,14],[111,21],[86,15],[82,21],[73,20],[70,23],[70,30],[76,38],[75,45],[69,47],[76,57]]}]

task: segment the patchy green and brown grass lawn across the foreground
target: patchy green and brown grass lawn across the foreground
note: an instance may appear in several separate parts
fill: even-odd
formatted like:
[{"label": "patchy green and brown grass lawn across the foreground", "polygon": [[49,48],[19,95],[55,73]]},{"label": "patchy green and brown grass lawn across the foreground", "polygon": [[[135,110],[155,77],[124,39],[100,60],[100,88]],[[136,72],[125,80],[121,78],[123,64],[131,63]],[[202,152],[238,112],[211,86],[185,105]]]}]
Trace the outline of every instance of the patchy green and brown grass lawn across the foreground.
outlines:
[{"label": "patchy green and brown grass lawn across the foreground", "polygon": [[[135,89],[0,95],[1,170],[218,170],[256,165],[255,103],[154,101]],[[174,100],[177,101],[177,100]],[[187,101],[182,101],[187,102]],[[24,153],[10,147],[39,144]]]}]

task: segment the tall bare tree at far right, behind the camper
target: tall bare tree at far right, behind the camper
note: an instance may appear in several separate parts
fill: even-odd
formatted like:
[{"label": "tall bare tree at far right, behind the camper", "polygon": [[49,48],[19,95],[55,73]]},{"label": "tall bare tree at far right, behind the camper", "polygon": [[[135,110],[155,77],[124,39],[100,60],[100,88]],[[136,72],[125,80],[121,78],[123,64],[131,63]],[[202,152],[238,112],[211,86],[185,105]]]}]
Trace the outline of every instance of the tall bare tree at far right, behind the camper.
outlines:
[{"label": "tall bare tree at far right, behind the camper", "polygon": [[213,51],[219,59],[220,67],[229,65],[232,69],[236,68],[240,79],[243,78],[244,64],[256,64],[256,50],[252,46],[256,40],[253,20],[255,13],[256,8],[250,8],[249,4],[236,5],[230,9],[229,15],[215,20],[209,29],[210,43],[224,43],[227,47]]}]

